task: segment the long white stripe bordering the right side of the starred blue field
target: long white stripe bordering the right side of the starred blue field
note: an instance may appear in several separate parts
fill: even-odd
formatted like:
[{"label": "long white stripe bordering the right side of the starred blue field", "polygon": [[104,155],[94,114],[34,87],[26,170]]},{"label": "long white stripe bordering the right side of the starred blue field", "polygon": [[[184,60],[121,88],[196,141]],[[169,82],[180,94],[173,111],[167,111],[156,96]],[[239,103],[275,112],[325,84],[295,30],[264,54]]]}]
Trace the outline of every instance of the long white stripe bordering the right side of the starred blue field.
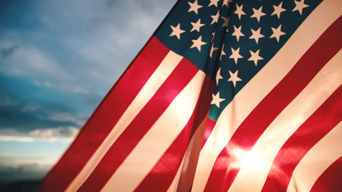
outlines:
[{"label": "long white stripe bordering the right side of the starred blue field", "polygon": [[[336,5],[338,4],[338,5]],[[203,191],[218,154],[247,115],[291,70],[309,47],[341,15],[341,1],[323,1],[286,44],[222,111],[200,152],[192,191]],[[303,37],[303,34],[305,37]],[[301,42],[298,44],[298,42]]]}]

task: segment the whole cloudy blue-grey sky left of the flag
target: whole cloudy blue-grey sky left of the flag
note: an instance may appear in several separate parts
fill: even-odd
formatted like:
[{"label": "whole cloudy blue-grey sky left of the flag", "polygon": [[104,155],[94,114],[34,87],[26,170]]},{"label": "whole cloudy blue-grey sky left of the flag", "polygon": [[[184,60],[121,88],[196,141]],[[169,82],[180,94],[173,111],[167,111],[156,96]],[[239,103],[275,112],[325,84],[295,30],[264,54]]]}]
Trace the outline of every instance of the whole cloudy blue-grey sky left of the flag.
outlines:
[{"label": "whole cloudy blue-grey sky left of the flag", "polygon": [[175,2],[0,1],[0,182],[44,176]]}]

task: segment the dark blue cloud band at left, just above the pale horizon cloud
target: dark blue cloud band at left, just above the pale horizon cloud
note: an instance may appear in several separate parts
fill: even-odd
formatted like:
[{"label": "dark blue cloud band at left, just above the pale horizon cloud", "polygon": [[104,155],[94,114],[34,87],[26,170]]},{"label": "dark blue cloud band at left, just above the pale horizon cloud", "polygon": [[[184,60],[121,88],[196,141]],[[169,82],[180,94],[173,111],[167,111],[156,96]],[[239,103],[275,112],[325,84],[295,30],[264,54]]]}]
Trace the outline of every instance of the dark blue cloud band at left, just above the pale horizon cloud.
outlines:
[{"label": "dark blue cloud band at left, just above the pale horizon cloud", "polygon": [[88,114],[80,115],[67,103],[57,100],[32,100],[25,98],[25,95],[0,92],[0,129],[14,128],[28,132],[59,126],[80,128],[87,118]]}]

